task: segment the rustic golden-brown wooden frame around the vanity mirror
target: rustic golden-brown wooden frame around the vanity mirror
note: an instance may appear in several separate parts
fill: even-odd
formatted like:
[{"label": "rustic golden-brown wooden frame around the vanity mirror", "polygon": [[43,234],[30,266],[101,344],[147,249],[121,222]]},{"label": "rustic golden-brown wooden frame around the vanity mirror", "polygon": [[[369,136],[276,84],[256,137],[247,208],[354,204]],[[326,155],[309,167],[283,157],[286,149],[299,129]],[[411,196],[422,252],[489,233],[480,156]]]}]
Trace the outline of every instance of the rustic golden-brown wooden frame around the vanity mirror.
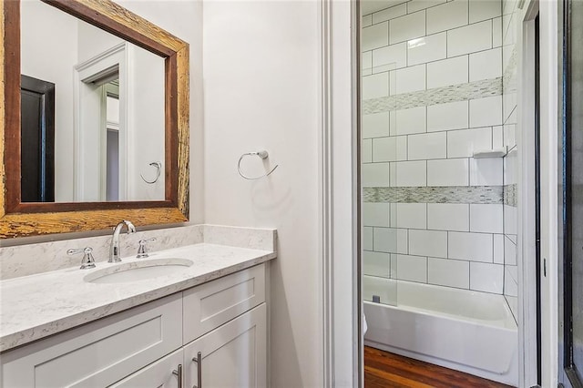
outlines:
[{"label": "rustic golden-brown wooden frame around the vanity mirror", "polygon": [[21,202],[20,1],[0,0],[0,238],[189,218],[189,45],[110,0],[42,0],[165,58],[165,199]]}]

